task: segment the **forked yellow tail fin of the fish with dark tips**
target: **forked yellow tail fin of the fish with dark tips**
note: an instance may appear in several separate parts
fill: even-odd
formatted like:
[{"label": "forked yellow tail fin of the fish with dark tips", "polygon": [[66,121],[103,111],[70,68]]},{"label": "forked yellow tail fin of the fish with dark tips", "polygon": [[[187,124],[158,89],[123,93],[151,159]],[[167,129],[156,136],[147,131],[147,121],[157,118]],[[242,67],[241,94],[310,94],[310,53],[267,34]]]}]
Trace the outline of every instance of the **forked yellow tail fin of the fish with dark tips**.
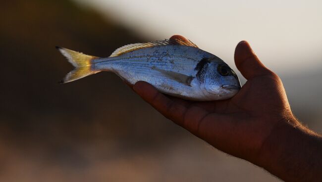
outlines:
[{"label": "forked yellow tail fin of the fish with dark tips", "polygon": [[84,78],[86,76],[98,73],[100,71],[93,70],[92,67],[92,60],[98,57],[86,55],[80,52],[76,52],[73,50],[69,50],[67,48],[62,48],[56,46],[56,48],[60,51],[62,55],[64,55],[68,62],[70,62],[75,69],[69,72],[63,80],[61,80],[59,83],[67,83],[72,82],[81,78]]}]

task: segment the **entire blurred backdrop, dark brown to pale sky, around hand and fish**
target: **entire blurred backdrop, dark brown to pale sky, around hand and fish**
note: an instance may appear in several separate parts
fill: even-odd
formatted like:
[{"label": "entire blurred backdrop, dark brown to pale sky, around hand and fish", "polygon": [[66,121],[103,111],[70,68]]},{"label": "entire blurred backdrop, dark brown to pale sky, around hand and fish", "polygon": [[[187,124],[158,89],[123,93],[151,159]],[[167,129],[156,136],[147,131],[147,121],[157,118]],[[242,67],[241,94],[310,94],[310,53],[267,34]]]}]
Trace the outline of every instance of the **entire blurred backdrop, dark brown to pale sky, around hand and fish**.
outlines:
[{"label": "entire blurred backdrop, dark brown to pale sky, around hand and fish", "polygon": [[[168,121],[114,74],[57,81],[54,46],[105,57],[180,34],[225,60],[247,40],[322,133],[321,0],[2,0],[1,182],[277,182]],[[243,83],[245,79],[241,77]]]}]

